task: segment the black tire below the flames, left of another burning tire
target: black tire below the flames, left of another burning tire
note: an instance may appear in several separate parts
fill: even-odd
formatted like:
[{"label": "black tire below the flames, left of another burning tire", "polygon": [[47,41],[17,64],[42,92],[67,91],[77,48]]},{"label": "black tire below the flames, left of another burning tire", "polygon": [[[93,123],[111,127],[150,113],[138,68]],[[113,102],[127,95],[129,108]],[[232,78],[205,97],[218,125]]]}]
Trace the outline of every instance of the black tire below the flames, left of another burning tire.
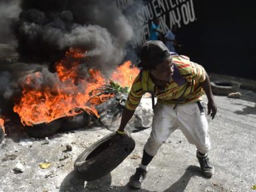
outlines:
[{"label": "black tire below the flames, left of another burning tire", "polygon": [[31,137],[47,137],[55,133],[62,125],[63,119],[55,119],[50,123],[40,123],[33,126],[25,126],[25,131]]}]

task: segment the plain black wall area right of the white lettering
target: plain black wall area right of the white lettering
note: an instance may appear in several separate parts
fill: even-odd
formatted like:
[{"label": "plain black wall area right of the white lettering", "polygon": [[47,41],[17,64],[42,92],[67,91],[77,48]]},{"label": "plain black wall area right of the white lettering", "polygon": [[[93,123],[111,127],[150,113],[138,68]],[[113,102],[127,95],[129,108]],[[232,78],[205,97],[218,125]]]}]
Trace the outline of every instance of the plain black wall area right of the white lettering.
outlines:
[{"label": "plain black wall area right of the white lettering", "polygon": [[256,1],[193,3],[197,21],[177,31],[179,54],[211,73],[256,79]]}]

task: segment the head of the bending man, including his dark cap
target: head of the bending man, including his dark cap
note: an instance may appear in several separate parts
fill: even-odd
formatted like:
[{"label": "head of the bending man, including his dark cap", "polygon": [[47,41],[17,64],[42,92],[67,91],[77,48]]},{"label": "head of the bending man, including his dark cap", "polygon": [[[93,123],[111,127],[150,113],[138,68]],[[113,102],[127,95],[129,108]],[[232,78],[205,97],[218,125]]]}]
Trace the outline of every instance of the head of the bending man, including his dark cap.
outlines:
[{"label": "head of the bending man, including his dark cap", "polygon": [[148,70],[156,79],[169,81],[173,75],[171,53],[162,41],[147,41],[140,49],[138,67]]}]

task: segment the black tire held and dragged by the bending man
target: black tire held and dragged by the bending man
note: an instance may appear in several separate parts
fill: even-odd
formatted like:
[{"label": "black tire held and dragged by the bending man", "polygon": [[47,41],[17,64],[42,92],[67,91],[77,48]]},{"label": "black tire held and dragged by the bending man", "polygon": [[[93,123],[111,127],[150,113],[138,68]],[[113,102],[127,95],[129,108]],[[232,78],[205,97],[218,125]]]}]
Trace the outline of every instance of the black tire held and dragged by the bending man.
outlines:
[{"label": "black tire held and dragged by the bending man", "polygon": [[135,148],[135,141],[128,133],[109,145],[113,135],[115,132],[93,143],[75,161],[75,170],[85,181],[94,181],[107,175]]}]

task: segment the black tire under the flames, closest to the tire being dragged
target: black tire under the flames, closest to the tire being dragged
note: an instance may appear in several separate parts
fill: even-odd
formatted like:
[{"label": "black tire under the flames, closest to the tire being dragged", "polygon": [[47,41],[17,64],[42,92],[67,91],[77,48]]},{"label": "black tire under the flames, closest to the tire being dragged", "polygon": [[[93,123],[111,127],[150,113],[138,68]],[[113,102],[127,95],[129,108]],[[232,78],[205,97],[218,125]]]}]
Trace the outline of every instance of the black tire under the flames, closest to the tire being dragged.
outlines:
[{"label": "black tire under the flames, closest to the tire being dragged", "polygon": [[91,122],[91,116],[83,111],[73,117],[64,117],[59,131],[72,131],[86,127]]}]

